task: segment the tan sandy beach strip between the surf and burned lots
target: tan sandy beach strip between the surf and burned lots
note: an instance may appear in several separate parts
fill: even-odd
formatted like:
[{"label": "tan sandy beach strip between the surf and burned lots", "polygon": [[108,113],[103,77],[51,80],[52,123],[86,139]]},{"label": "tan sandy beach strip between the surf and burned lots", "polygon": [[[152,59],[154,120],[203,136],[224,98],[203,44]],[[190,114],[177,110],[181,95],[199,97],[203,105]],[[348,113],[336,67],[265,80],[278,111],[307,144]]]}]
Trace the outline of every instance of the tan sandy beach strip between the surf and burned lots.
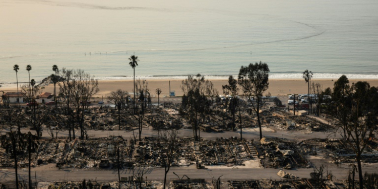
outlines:
[{"label": "tan sandy beach strip between the surf and burned lots", "polygon": [[[151,91],[153,97],[157,97],[155,90],[160,88],[162,90],[162,94],[160,97],[169,97],[169,82],[171,91],[175,91],[176,96],[181,96],[183,94],[181,90],[181,81],[182,80],[150,80],[148,82],[148,88]],[[211,80],[214,84],[214,87],[218,89],[219,94],[223,94],[222,85],[227,84],[227,80],[219,79],[219,80]],[[311,80],[311,83],[320,83],[323,85],[323,88],[331,87],[336,80],[332,79],[322,79],[322,80]],[[378,86],[378,80],[349,80],[350,84],[355,83],[357,81],[367,81],[370,83],[370,86]],[[43,92],[53,92],[53,85],[50,84],[48,86],[44,86],[45,88],[42,89]],[[117,89],[122,89],[128,92],[133,91],[133,81],[132,80],[101,80],[99,81],[99,89],[100,91],[94,95],[94,97],[106,97],[110,94],[111,91],[115,91]],[[0,88],[0,90],[4,92],[17,92],[16,88]],[[58,87],[57,87],[58,90]],[[239,91],[241,93],[241,91]],[[278,95],[287,95],[291,93],[302,94],[307,93],[307,84],[304,80],[269,80],[269,89],[267,92],[270,92],[274,96]]]}]

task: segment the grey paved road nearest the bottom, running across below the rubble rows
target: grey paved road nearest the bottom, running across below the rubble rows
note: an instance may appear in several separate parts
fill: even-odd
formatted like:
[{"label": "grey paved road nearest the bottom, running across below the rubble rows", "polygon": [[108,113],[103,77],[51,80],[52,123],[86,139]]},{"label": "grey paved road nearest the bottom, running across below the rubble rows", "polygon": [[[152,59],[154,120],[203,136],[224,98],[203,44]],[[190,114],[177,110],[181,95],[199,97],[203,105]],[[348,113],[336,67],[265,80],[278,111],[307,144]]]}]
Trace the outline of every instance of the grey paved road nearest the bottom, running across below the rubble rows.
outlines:
[{"label": "grey paved road nearest the bottom, running across below the rubble rows", "polygon": [[[52,164],[51,164],[52,165]],[[112,169],[60,169],[52,168],[51,165],[46,165],[45,169],[42,167],[32,168],[32,173],[34,172],[37,175],[38,181],[65,181],[65,180],[72,180],[72,181],[79,181],[83,178],[86,179],[97,179],[97,180],[118,180],[118,173],[117,170]],[[168,173],[167,179],[172,180],[176,179],[177,176],[173,174],[175,172],[179,176],[186,174],[190,178],[205,178],[206,180],[211,180],[212,177],[222,176],[223,180],[241,180],[241,179],[261,179],[261,178],[272,178],[272,179],[281,179],[277,172],[280,169],[196,169],[193,166],[191,167],[173,167]],[[364,172],[377,172],[377,167],[371,166],[364,166]],[[140,170],[135,170],[137,173]],[[145,176],[147,179],[152,180],[163,180],[164,179],[164,169],[163,168],[155,168],[155,169],[144,169],[146,172]],[[309,178],[310,172],[312,172],[312,168],[300,168],[295,170],[285,170],[286,172],[292,173],[300,178]],[[332,174],[336,177],[336,179],[346,179],[348,176],[348,166],[343,167],[336,167],[336,166],[329,166],[328,171],[332,171]],[[121,177],[131,176],[133,175],[133,170],[125,169],[120,171]],[[19,169],[19,178],[27,179],[28,178],[28,171],[27,168]],[[33,176],[34,178],[34,176]],[[0,180],[2,181],[11,181],[15,179],[14,169],[0,169]]]}]

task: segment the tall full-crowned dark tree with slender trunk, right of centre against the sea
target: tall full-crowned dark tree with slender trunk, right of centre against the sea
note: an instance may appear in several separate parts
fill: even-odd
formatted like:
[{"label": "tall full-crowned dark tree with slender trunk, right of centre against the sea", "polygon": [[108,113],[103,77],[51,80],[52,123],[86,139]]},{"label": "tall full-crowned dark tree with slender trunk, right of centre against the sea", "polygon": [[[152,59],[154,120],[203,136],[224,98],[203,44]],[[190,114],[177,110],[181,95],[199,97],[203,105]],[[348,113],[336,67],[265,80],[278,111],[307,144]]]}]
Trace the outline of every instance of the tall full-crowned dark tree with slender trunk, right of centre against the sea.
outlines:
[{"label": "tall full-crowned dark tree with slender trunk, right of centre against the sea", "polygon": [[[264,105],[263,93],[269,87],[269,67],[266,63],[249,64],[247,67],[241,67],[238,75],[238,84],[241,86],[247,100],[252,104],[257,114],[260,128],[260,139],[263,138],[261,128],[260,109]],[[268,94],[269,96],[270,94]]]}]

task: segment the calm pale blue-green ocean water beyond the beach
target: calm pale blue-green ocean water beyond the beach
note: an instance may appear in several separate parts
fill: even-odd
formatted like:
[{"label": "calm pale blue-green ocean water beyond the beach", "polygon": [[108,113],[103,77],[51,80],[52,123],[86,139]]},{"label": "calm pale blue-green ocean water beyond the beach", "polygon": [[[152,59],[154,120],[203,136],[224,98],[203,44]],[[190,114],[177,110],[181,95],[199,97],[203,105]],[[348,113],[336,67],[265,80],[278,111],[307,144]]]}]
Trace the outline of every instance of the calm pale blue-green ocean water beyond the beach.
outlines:
[{"label": "calm pale blue-green ocean water beyond the beach", "polygon": [[0,83],[59,68],[98,79],[237,75],[263,61],[270,78],[378,79],[378,1],[0,0]]}]

